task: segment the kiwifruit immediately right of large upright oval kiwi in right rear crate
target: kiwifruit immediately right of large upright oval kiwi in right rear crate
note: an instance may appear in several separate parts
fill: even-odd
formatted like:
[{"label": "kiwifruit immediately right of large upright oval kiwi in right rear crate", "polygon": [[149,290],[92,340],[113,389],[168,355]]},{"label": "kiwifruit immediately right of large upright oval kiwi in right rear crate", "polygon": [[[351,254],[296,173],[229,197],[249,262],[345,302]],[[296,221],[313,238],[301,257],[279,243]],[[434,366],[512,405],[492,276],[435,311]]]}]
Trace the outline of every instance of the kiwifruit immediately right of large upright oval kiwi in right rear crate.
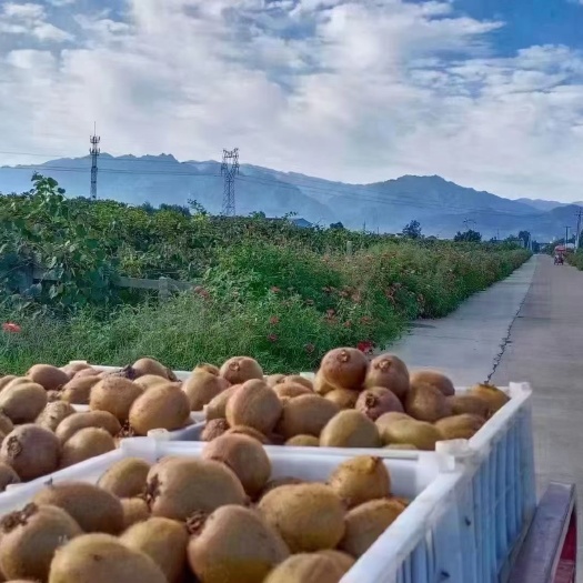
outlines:
[{"label": "kiwifruit immediately right of large upright oval kiwi in right rear crate", "polygon": [[339,412],[336,403],[316,394],[296,396],[283,404],[277,431],[285,440],[295,435],[319,438],[325,424]]}]

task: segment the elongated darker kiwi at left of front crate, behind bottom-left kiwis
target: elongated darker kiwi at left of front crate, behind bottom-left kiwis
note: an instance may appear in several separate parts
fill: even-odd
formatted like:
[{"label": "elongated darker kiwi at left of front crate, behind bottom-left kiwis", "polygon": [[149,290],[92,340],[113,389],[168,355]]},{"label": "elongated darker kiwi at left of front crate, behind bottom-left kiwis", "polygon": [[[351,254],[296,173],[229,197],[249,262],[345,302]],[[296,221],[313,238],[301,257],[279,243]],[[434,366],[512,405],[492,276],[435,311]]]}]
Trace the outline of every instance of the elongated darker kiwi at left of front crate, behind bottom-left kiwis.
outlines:
[{"label": "elongated darker kiwi at left of front crate, behind bottom-left kiwis", "polygon": [[123,529],[123,509],[120,500],[94,484],[50,484],[37,492],[32,502],[63,509],[84,532],[118,534]]}]

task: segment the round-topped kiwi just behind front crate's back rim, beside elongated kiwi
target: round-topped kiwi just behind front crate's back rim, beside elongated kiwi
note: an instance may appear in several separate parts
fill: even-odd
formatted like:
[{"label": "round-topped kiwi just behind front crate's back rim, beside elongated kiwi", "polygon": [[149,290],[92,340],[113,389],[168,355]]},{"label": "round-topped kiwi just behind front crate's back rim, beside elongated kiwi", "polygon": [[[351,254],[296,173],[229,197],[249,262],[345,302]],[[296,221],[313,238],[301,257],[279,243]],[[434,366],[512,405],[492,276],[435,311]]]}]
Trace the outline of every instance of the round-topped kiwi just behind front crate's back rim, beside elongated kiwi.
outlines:
[{"label": "round-topped kiwi just behind front crate's back rim, beside elongated kiwi", "polygon": [[360,411],[345,410],[334,415],[320,433],[321,448],[380,448],[374,422]]}]

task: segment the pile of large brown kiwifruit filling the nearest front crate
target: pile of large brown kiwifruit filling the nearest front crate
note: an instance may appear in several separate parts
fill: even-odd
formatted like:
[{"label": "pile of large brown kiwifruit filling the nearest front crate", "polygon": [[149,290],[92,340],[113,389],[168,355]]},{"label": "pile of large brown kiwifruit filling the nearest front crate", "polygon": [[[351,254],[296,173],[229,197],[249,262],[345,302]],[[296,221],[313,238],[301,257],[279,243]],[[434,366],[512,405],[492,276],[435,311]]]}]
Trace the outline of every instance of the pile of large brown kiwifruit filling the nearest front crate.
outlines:
[{"label": "pile of large brown kiwifruit filling the nearest front crate", "polygon": [[47,485],[0,521],[0,581],[338,583],[409,503],[379,458],[273,479],[259,441],[222,435],[199,458]]}]

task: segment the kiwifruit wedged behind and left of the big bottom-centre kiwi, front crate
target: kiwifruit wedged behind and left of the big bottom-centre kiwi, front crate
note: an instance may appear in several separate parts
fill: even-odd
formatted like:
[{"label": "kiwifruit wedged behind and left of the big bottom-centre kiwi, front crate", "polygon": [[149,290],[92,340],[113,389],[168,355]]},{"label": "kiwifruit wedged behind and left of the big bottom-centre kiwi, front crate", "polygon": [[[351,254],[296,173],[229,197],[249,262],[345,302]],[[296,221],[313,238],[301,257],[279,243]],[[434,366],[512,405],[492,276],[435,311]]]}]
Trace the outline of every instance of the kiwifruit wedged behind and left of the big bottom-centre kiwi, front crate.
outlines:
[{"label": "kiwifruit wedged behind and left of the big bottom-centre kiwi, front crate", "polygon": [[152,516],[130,526],[120,541],[129,549],[147,554],[162,570],[168,583],[181,583],[189,542],[185,524]]}]

